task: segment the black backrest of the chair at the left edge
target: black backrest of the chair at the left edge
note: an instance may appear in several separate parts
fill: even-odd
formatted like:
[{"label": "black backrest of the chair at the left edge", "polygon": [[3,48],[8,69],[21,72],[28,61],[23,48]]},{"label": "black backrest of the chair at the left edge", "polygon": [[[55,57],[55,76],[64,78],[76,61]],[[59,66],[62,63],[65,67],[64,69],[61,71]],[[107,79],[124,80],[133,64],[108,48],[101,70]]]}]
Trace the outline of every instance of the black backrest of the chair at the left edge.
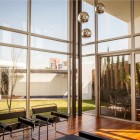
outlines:
[{"label": "black backrest of the chair at the left edge", "polygon": [[25,108],[14,108],[10,112],[8,110],[0,110],[0,120],[14,119],[18,117],[26,117]]}]

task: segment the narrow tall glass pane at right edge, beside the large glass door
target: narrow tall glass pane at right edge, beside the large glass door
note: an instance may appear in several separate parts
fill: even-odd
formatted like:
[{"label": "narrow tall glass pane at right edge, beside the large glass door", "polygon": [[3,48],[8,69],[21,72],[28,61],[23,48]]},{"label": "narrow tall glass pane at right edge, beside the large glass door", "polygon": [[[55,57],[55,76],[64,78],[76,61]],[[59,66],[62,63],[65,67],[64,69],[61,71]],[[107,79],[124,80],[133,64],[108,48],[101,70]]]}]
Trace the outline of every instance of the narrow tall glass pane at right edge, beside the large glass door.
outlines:
[{"label": "narrow tall glass pane at right edge, beside the large glass door", "polygon": [[140,121],[140,54],[135,55],[136,120]]}]

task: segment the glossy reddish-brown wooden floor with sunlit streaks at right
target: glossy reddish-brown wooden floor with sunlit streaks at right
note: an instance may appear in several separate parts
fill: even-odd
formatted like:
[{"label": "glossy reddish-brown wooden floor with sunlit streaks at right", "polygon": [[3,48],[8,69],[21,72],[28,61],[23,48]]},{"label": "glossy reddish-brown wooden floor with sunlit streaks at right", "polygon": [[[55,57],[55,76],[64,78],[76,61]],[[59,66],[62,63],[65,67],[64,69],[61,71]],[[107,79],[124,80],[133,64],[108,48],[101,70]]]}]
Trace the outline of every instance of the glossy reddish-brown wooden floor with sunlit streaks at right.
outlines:
[{"label": "glossy reddish-brown wooden floor with sunlit streaks at right", "polygon": [[[57,130],[65,134],[78,134],[80,130],[96,133],[113,140],[140,140],[140,124],[114,120],[109,118],[83,115],[82,117],[70,118],[68,123],[57,124]],[[63,137],[64,134],[55,133],[55,128],[49,126],[49,140]],[[33,132],[33,138],[38,139],[38,128]],[[0,139],[2,139],[0,137]],[[5,137],[5,140],[22,140],[22,132],[13,134],[13,138]],[[25,140],[30,140],[30,133],[27,131]],[[41,128],[40,140],[47,140],[46,127]]]}]

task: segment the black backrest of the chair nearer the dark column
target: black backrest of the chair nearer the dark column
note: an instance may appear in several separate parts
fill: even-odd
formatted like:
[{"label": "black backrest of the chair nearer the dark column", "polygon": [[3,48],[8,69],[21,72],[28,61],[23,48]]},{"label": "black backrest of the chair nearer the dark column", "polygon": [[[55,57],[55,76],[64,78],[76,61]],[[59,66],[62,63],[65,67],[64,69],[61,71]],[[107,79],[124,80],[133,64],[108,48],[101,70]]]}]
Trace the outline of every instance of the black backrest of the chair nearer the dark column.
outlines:
[{"label": "black backrest of the chair nearer the dark column", "polygon": [[57,111],[56,104],[37,105],[37,106],[32,106],[31,108],[32,108],[33,115],[45,113],[45,112]]}]

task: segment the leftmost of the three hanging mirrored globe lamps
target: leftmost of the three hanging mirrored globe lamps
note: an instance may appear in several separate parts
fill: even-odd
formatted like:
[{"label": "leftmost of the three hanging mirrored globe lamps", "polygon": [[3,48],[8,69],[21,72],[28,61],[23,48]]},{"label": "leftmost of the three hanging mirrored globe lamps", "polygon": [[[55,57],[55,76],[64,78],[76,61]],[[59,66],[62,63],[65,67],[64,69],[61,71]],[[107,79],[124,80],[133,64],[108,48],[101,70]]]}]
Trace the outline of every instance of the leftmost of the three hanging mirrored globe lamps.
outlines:
[{"label": "leftmost of the three hanging mirrored globe lamps", "polygon": [[81,13],[79,13],[79,15],[78,15],[78,21],[80,23],[88,22],[88,20],[89,20],[89,14],[87,12],[81,12]]}]

